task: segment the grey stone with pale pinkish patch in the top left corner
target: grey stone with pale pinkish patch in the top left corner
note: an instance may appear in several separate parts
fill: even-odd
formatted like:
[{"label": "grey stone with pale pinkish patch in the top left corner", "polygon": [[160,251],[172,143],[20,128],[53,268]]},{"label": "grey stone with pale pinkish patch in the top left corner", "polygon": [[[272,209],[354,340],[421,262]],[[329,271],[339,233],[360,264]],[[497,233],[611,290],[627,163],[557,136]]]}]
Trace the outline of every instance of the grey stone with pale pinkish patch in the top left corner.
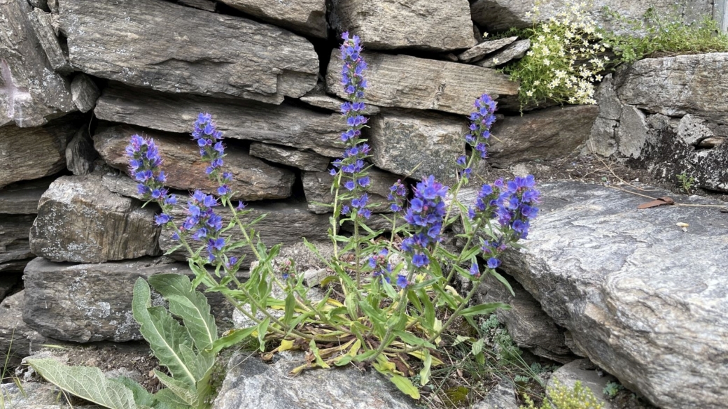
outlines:
[{"label": "grey stone with pale pinkish patch in the top left corner", "polygon": [[0,1],[0,127],[13,122],[38,127],[76,109],[68,82],[41,48],[29,12],[28,1]]}]

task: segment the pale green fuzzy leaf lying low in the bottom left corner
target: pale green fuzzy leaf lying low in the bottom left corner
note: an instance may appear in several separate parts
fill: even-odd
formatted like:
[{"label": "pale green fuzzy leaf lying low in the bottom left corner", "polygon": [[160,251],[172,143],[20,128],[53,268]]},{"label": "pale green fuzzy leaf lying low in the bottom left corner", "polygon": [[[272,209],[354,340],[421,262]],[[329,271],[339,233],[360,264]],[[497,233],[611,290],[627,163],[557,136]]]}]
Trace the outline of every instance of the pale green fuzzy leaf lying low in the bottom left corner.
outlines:
[{"label": "pale green fuzzy leaf lying low in the bottom left corner", "polygon": [[51,384],[84,400],[110,409],[137,409],[132,390],[98,368],[68,366],[50,358],[27,362]]}]

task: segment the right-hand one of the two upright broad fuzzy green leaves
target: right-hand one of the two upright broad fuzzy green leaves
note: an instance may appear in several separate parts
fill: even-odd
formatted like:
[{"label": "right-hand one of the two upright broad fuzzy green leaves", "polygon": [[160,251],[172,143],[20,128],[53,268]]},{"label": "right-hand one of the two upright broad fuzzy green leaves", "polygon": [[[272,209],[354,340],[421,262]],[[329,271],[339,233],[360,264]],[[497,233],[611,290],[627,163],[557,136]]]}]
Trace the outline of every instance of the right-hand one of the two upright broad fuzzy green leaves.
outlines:
[{"label": "right-hand one of the two upright broad fuzzy green leaves", "polygon": [[205,295],[192,288],[187,276],[156,274],[149,277],[149,284],[170,302],[170,312],[182,319],[199,351],[218,339],[218,327],[215,317],[210,314],[210,304]]}]

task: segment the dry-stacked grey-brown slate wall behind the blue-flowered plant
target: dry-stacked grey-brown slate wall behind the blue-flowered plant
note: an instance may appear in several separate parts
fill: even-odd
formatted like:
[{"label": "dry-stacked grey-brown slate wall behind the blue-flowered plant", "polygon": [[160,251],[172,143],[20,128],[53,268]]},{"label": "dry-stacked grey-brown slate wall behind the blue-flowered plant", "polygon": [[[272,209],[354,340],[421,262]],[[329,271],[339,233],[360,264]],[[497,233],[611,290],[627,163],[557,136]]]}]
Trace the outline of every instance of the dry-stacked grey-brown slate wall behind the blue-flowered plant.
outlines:
[{"label": "dry-stacked grey-brown slate wall behind the blue-flowered plant", "polygon": [[[560,3],[547,2],[539,18]],[[605,4],[628,16],[649,7],[595,3],[597,18]],[[686,20],[713,13],[712,1],[686,4]],[[212,113],[226,137],[235,199],[248,202],[251,218],[269,215],[258,224],[261,239],[325,239],[328,215],[315,203],[331,200],[326,170],[345,129],[342,31],[359,35],[367,50],[375,203],[397,179],[453,180],[467,115],[483,92],[500,106],[492,165],[557,158],[582,146],[598,108],[521,116],[518,84],[496,68],[522,57],[529,42],[481,35],[530,24],[531,7],[512,0],[0,0],[0,298],[25,288],[4,301],[22,317],[0,323],[0,349],[11,327],[22,328],[25,340],[139,339],[130,314],[135,279],[189,274],[183,254],[160,257],[174,242],[154,225],[157,209],[142,207],[127,175],[124,146],[134,133],[157,141],[170,187],[209,192],[189,132],[200,111]],[[29,341],[13,344],[18,355],[28,348]]]}]

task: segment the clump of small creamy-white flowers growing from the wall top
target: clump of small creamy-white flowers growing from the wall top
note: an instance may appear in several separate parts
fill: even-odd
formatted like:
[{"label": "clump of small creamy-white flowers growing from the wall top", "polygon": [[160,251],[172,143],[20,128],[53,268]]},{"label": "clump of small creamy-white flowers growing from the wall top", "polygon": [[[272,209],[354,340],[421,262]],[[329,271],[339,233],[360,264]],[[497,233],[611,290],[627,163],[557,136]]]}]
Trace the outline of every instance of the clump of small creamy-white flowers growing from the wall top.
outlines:
[{"label": "clump of small creamy-white flowers growing from the wall top", "polygon": [[[538,3],[534,14],[538,14]],[[520,31],[531,39],[531,49],[521,60],[503,68],[513,81],[521,82],[518,100],[528,103],[593,104],[594,83],[601,81],[609,57],[587,4],[567,1],[562,12],[545,23]]]}]

